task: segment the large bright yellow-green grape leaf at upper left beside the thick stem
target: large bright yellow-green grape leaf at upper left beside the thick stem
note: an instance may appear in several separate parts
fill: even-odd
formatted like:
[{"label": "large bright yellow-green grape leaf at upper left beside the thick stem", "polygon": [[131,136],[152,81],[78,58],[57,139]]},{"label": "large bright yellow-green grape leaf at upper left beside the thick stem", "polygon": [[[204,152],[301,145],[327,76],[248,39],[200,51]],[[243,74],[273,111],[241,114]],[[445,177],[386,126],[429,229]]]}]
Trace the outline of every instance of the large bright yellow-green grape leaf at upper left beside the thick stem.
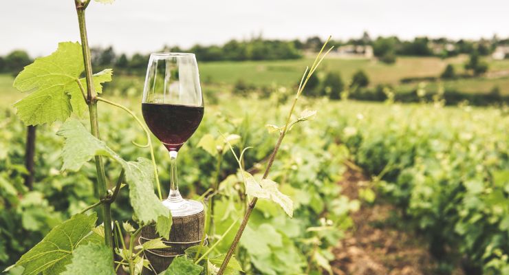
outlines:
[{"label": "large bright yellow-green grape leaf at upper left beside the thick stem", "polygon": [[[14,80],[13,86],[19,91],[32,94],[14,103],[21,120],[27,125],[65,121],[74,111],[82,115],[87,108],[78,86],[85,79],[79,79],[83,72],[83,52],[79,43],[58,43],[58,49],[26,66]],[[111,69],[94,74],[94,87],[102,91],[101,83],[111,81]]]}]

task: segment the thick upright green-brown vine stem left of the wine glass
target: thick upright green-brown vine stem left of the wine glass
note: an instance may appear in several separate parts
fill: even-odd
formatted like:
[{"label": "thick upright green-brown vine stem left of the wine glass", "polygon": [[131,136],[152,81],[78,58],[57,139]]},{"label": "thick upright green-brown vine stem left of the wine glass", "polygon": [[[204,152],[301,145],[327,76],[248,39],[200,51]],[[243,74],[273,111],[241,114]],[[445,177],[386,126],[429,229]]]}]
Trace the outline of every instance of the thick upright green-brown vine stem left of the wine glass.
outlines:
[{"label": "thick upright green-brown vine stem left of the wine glass", "polygon": [[[94,90],[94,79],[92,77],[92,64],[91,54],[88,45],[87,25],[85,23],[85,9],[90,3],[90,0],[80,1],[74,0],[76,5],[76,12],[78,14],[78,25],[80,29],[81,49],[83,51],[83,64],[85,66],[85,77],[87,80],[87,105],[90,115],[90,128],[91,134],[100,139],[99,135],[99,122],[97,113],[97,102],[95,100],[96,91]],[[96,190],[99,194],[99,199],[102,200],[107,196],[107,184],[105,165],[102,162],[102,157],[96,156],[96,170],[97,170],[97,185]],[[105,244],[111,248],[113,254],[113,232],[111,230],[111,205],[110,203],[102,203],[102,219],[105,224]]]}]

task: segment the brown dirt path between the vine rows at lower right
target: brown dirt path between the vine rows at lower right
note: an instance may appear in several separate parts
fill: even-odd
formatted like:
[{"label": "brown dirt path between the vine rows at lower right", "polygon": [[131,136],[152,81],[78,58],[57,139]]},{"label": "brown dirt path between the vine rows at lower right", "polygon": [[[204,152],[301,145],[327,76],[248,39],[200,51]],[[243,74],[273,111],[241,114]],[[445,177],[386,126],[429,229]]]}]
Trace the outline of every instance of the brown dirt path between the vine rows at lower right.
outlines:
[{"label": "brown dirt path between the vine rows at lower right", "polygon": [[[347,170],[338,183],[343,194],[358,199],[358,190],[367,178],[356,170]],[[365,184],[364,184],[365,185]],[[388,222],[393,206],[387,203],[362,202],[351,214],[354,228],[346,232],[333,252],[332,268],[336,275],[427,275],[433,274],[435,262],[426,243],[411,232],[398,230]],[[454,272],[456,275],[462,272]]]}]

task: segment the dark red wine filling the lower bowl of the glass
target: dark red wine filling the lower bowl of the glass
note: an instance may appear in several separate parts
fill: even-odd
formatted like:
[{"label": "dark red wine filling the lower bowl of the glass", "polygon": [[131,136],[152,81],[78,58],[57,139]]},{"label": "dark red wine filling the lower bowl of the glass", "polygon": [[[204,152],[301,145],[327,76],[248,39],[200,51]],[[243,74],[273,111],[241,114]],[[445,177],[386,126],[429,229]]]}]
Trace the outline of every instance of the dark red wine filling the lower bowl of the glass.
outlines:
[{"label": "dark red wine filling the lower bowl of the glass", "polygon": [[204,107],[142,103],[142,113],[150,131],[168,151],[178,151],[202,122]]}]

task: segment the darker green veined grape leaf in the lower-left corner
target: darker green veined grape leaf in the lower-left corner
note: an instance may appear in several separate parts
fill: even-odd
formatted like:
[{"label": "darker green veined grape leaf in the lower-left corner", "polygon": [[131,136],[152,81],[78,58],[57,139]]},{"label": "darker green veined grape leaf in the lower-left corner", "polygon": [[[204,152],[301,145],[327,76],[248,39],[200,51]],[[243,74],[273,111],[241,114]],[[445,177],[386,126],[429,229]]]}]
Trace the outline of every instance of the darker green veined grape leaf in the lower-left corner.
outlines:
[{"label": "darker green veined grape leaf in the lower-left corner", "polygon": [[17,261],[25,267],[23,275],[60,274],[72,259],[73,250],[88,236],[96,223],[96,215],[76,214],[53,228]]}]

